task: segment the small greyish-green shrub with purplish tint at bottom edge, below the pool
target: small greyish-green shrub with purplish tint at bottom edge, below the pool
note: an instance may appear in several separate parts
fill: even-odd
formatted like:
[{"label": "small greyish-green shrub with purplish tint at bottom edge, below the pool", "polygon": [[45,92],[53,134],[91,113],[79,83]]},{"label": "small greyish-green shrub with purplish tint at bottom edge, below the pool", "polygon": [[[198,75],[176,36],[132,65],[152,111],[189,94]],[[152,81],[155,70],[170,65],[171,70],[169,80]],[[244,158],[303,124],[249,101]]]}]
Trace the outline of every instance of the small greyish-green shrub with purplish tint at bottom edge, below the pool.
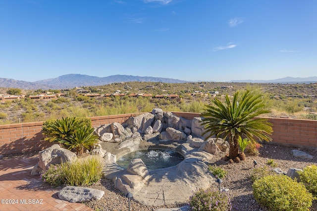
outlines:
[{"label": "small greyish-green shrub with purplish tint at bottom edge, below the pool", "polygon": [[219,190],[200,189],[189,199],[191,211],[231,211],[230,197]]}]

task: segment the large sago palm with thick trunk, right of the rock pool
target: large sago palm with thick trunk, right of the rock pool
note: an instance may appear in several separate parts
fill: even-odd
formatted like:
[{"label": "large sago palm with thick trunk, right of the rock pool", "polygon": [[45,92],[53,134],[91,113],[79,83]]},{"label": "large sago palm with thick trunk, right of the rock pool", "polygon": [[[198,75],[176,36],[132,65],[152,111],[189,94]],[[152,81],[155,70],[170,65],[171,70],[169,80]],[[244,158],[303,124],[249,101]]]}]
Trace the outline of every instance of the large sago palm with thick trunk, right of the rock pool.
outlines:
[{"label": "large sago palm with thick trunk, right of the rock pool", "polygon": [[222,137],[229,141],[229,158],[235,159],[239,155],[238,138],[246,137],[251,141],[265,140],[270,141],[272,124],[267,119],[256,118],[261,114],[269,113],[265,109],[262,95],[246,90],[240,100],[239,92],[233,96],[232,103],[229,96],[225,97],[225,103],[214,98],[211,104],[206,105],[207,109],[202,113],[202,125],[208,134],[206,139],[213,135]]}]

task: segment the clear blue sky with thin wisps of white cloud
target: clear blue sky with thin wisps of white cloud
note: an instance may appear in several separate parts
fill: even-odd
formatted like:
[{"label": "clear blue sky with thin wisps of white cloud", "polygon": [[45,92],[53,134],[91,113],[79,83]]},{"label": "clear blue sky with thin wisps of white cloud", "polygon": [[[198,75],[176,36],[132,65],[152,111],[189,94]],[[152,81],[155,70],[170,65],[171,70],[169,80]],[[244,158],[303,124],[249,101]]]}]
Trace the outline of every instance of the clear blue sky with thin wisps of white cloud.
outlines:
[{"label": "clear blue sky with thin wisps of white cloud", "polygon": [[0,78],[317,76],[317,0],[0,0]]}]

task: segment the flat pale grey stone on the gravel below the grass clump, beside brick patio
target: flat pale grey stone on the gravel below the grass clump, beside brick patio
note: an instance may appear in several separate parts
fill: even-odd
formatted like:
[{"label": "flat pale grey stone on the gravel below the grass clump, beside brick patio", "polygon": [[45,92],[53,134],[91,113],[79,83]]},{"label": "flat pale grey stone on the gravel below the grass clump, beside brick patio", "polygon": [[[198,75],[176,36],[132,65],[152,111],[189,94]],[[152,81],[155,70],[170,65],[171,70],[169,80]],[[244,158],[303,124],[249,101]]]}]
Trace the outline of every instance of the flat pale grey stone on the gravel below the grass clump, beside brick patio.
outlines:
[{"label": "flat pale grey stone on the gravel below the grass clump, beside brick patio", "polygon": [[100,200],[105,191],[93,188],[66,186],[58,192],[58,198],[68,202],[89,202],[93,199]]}]

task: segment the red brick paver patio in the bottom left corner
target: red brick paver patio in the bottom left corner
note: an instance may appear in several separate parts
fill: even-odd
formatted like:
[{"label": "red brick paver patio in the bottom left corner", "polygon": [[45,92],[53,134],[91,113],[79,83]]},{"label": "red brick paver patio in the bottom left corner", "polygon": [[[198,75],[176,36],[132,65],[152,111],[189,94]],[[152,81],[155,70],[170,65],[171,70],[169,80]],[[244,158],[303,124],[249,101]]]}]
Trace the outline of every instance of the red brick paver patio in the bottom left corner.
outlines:
[{"label": "red brick paver patio in the bottom left corner", "polygon": [[93,211],[85,204],[60,200],[60,187],[32,176],[38,161],[38,156],[0,160],[0,211]]}]

